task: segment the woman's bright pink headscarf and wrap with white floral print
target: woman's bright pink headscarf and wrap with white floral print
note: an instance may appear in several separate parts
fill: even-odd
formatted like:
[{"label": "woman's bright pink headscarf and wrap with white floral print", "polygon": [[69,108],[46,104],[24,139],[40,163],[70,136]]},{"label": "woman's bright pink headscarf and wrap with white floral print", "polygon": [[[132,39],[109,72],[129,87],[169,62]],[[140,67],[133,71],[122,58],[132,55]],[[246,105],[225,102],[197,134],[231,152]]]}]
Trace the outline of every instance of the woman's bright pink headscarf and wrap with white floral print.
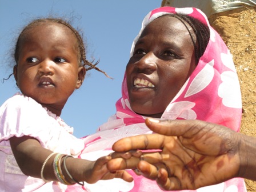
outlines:
[{"label": "woman's bright pink headscarf and wrap with white floral print", "polygon": [[[163,14],[187,14],[199,19],[210,28],[210,41],[198,66],[187,79],[185,85],[170,102],[161,119],[200,119],[218,123],[239,131],[241,123],[241,91],[232,55],[219,34],[209,25],[201,10],[195,8],[160,7],[146,15],[142,29],[133,42],[131,54],[139,35],[146,25]],[[145,118],[134,113],[129,103],[126,77],[122,83],[122,98],[117,103],[117,113],[99,127],[98,132],[84,139],[85,149],[81,158],[95,160],[112,152],[111,146],[118,139],[138,134],[151,134],[145,125]],[[178,127],[177,127],[178,129]],[[161,191],[155,181],[134,176],[134,182],[121,179],[99,181],[86,184],[87,191]],[[185,190],[193,191],[193,190]],[[242,178],[234,178],[214,186],[203,187],[197,192],[243,192],[246,191]]]}]

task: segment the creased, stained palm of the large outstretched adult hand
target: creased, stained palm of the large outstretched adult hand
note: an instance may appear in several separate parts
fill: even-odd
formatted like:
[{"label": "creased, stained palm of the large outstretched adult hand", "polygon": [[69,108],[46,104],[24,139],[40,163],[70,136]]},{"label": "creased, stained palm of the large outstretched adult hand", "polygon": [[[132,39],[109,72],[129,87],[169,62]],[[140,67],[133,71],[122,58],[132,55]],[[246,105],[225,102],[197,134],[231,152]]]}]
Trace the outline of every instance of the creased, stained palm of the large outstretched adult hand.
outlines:
[{"label": "creased, stained palm of the large outstretched adult hand", "polygon": [[[159,170],[161,176],[157,178],[162,189],[198,189],[226,181],[238,172],[238,155],[230,153],[229,147],[214,134],[193,138],[164,136],[162,146],[161,158],[158,159],[166,168]],[[161,167],[159,163],[151,163]]]}]

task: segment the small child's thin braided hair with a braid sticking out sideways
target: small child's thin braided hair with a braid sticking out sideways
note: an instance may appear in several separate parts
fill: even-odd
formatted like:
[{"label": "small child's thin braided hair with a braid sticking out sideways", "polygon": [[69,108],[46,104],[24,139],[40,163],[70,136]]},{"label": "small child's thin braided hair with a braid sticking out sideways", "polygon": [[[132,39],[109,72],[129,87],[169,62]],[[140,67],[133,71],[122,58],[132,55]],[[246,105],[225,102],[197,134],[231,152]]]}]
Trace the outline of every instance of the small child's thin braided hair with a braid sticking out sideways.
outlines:
[{"label": "small child's thin braided hair with a braid sticking out sideways", "polygon": [[[83,66],[85,67],[86,70],[91,70],[91,69],[95,69],[97,71],[100,71],[101,73],[105,74],[106,77],[109,77],[109,75],[107,75],[105,73],[105,71],[102,71],[101,69],[99,69],[98,67],[96,67],[96,65],[98,65],[99,60],[97,62],[95,62],[93,64],[93,62],[89,62],[86,59],[86,49],[85,49],[85,44],[83,43],[83,38],[82,38],[82,34],[79,33],[79,30],[75,29],[73,26],[71,26],[70,22],[65,21],[62,18],[41,18],[41,19],[35,19],[34,21],[30,22],[29,25],[27,25],[19,34],[19,37],[17,39],[16,42],[16,46],[15,46],[15,51],[14,51],[14,59],[15,59],[15,65],[18,65],[18,58],[19,58],[19,50],[20,48],[20,42],[22,37],[24,37],[26,35],[26,31],[31,29],[34,26],[39,25],[42,22],[50,22],[50,23],[60,23],[66,27],[68,27],[75,35],[75,37],[77,38],[77,42],[78,42],[78,59],[79,59],[79,66]],[[110,77],[109,77],[110,78]]]}]

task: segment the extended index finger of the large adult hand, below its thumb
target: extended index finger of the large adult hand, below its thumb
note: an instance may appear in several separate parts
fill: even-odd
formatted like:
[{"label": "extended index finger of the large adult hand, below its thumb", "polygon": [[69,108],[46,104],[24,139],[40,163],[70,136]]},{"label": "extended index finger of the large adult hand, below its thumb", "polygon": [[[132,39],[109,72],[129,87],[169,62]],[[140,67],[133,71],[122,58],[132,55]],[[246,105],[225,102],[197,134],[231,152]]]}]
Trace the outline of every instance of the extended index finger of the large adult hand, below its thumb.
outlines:
[{"label": "extended index finger of the large adult hand, below its thumb", "polygon": [[112,149],[117,152],[137,149],[161,149],[165,141],[163,135],[137,135],[126,137],[114,143]]}]

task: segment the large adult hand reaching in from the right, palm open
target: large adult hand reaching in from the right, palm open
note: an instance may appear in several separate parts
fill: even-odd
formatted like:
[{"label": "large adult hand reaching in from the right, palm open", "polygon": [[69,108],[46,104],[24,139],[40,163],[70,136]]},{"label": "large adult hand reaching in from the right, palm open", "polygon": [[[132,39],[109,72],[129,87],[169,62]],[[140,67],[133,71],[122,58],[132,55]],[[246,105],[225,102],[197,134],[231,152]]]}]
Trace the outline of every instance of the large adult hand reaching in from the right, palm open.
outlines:
[{"label": "large adult hand reaching in from the right, palm open", "polygon": [[[235,131],[198,120],[146,119],[146,125],[158,134],[114,143],[116,153],[107,163],[109,170],[137,169],[135,173],[155,179],[164,190],[198,189],[238,175],[239,142]],[[162,151],[122,154],[137,149]]]}]

